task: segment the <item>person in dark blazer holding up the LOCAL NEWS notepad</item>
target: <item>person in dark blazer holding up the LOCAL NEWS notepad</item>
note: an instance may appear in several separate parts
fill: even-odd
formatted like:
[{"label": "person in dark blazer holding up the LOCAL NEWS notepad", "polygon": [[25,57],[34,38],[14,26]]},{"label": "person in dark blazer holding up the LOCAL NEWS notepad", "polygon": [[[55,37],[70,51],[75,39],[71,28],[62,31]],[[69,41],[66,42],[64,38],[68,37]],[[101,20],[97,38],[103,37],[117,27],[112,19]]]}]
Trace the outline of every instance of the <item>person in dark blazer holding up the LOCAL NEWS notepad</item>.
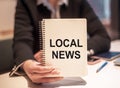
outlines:
[{"label": "person in dark blazer holding up the LOCAL NEWS notepad", "polygon": [[18,0],[13,42],[16,66],[11,76],[22,68],[34,83],[62,79],[47,78],[47,75],[59,75],[59,71],[52,66],[40,65],[42,46],[39,44],[42,39],[39,38],[39,21],[54,18],[56,10],[59,11],[56,18],[87,19],[88,51],[91,54],[109,50],[110,38],[86,0]]}]

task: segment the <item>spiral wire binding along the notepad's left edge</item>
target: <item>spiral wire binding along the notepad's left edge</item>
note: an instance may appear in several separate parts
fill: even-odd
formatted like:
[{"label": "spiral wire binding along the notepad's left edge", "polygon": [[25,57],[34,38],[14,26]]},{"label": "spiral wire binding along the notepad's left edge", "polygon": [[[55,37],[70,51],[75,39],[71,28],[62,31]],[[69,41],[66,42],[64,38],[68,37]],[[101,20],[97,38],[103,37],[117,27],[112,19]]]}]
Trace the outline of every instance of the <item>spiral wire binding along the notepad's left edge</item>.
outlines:
[{"label": "spiral wire binding along the notepad's left edge", "polygon": [[42,20],[39,22],[39,29],[42,30],[39,31],[39,39],[40,39],[40,49],[42,48],[42,61],[41,64],[45,65],[45,20]]}]

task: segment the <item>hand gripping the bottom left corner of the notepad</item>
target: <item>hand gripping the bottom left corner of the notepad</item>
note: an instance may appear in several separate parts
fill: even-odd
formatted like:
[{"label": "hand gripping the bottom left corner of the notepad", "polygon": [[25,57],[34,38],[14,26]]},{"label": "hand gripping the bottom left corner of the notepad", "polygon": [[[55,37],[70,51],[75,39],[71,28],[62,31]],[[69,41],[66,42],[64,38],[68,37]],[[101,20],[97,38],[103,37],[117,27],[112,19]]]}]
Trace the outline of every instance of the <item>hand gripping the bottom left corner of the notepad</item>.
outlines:
[{"label": "hand gripping the bottom left corner of the notepad", "polygon": [[[23,63],[23,69],[33,83],[46,83],[61,80],[60,72],[52,66],[41,66],[39,62],[27,60]],[[56,76],[57,77],[54,77]],[[48,77],[53,76],[53,77]]]}]

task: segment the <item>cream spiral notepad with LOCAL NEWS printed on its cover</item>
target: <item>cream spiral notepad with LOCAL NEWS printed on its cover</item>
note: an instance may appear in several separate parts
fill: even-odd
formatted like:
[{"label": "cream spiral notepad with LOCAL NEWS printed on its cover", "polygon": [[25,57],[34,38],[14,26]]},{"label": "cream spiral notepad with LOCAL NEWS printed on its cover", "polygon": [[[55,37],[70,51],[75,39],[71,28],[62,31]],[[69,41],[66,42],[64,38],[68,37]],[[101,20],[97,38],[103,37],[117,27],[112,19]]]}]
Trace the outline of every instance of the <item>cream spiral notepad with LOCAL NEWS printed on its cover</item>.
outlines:
[{"label": "cream spiral notepad with LOCAL NEWS printed on its cover", "polygon": [[64,77],[84,76],[87,73],[86,19],[43,19],[42,64],[51,64]]}]

